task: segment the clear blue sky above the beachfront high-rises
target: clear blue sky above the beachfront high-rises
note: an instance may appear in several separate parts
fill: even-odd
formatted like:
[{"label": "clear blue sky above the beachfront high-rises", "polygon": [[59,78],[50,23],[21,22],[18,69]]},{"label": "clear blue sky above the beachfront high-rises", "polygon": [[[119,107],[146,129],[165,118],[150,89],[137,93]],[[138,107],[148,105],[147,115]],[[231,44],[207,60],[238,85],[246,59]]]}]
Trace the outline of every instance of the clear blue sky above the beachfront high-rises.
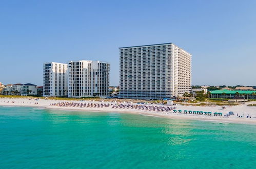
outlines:
[{"label": "clear blue sky above the beachfront high-rises", "polygon": [[192,85],[256,86],[256,1],[0,1],[4,84],[84,59],[119,85],[119,47],[169,42],[192,54]]}]

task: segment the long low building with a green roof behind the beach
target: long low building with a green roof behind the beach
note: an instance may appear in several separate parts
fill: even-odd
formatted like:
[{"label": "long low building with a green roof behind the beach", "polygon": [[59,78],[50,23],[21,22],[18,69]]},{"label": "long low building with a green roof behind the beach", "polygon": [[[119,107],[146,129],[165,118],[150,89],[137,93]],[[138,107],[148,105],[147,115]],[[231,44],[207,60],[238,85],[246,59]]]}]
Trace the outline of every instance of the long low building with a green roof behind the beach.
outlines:
[{"label": "long low building with a green roof behind the beach", "polygon": [[256,91],[244,91],[244,90],[214,90],[214,91],[211,91],[211,98],[233,99],[235,96],[239,96],[244,99],[256,99]]}]

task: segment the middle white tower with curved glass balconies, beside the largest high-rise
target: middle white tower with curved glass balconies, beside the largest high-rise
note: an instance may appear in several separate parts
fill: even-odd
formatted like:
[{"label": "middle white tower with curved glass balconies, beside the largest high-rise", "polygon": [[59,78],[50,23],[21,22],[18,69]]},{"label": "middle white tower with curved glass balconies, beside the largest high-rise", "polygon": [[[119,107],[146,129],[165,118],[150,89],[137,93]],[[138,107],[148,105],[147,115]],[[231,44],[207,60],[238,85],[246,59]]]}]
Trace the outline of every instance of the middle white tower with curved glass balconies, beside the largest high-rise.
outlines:
[{"label": "middle white tower with curved glass balconies, beside the largest high-rise", "polygon": [[110,64],[79,60],[68,63],[68,97],[107,97]]}]

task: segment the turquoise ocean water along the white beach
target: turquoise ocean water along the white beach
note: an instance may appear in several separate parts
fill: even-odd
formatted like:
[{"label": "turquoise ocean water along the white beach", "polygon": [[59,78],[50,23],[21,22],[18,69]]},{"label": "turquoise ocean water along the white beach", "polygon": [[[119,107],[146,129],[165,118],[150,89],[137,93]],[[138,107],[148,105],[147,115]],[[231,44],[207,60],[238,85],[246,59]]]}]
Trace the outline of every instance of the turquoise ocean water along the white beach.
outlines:
[{"label": "turquoise ocean water along the white beach", "polygon": [[256,125],[0,107],[0,168],[256,168]]}]

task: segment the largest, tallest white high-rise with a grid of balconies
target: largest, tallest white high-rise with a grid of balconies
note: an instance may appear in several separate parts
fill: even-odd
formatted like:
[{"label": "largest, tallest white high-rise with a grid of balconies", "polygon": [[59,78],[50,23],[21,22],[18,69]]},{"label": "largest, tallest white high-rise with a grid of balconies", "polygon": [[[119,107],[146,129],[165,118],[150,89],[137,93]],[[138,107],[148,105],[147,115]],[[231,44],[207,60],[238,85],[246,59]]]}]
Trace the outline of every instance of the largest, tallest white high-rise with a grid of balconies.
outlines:
[{"label": "largest, tallest white high-rise with a grid of balconies", "polygon": [[119,98],[163,99],[191,92],[191,54],[173,45],[120,49]]}]

